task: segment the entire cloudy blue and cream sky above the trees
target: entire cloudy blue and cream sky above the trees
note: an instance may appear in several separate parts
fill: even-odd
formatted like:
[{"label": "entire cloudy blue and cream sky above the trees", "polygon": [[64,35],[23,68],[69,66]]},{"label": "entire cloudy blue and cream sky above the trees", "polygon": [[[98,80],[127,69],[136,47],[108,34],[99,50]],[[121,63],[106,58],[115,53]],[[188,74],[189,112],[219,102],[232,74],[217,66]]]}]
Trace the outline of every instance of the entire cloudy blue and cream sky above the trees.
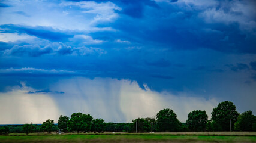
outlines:
[{"label": "entire cloudy blue and cream sky above the trees", "polygon": [[256,113],[256,1],[0,1],[0,123]]}]

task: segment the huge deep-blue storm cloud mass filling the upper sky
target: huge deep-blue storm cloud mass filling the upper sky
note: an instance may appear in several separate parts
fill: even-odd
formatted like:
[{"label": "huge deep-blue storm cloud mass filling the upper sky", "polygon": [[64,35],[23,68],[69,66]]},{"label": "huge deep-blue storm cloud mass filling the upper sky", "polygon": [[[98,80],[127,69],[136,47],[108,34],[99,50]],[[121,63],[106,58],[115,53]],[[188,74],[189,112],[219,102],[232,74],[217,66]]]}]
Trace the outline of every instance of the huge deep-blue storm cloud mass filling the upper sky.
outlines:
[{"label": "huge deep-blue storm cloud mass filling the upper sky", "polygon": [[[52,27],[43,24],[28,26],[17,24],[18,22],[2,24],[1,33],[26,33],[37,37],[37,41],[32,40],[34,42],[0,43],[3,45],[1,48],[4,47],[2,61],[8,61],[8,64],[0,62],[2,69],[11,67],[65,69],[79,71],[67,75],[85,76],[90,79],[94,77],[131,79],[137,81],[141,88],[144,88],[143,84],[146,83],[156,91],[178,92],[188,88],[196,92],[197,88],[208,82],[203,78],[204,74],[210,74],[212,75],[210,77],[215,78],[216,74],[224,75],[230,71],[239,73],[238,71],[248,70],[248,65],[243,64],[248,61],[236,60],[236,56],[256,52],[253,30],[255,17],[246,13],[248,10],[253,14],[249,6],[254,3],[214,1],[212,4],[197,1],[149,0],[88,3],[101,4],[101,9],[98,10],[93,7],[84,8],[85,4],[79,4],[81,1],[73,2],[70,7],[67,7],[68,4],[63,4],[65,7],[62,7],[57,2],[58,7],[55,7],[55,11],[60,14],[59,17],[74,18],[73,21],[77,23],[71,23],[72,25],[79,24],[80,20],[87,20],[90,23],[101,18],[105,21],[92,22],[89,30],[86,29],[87,27],[85,29],[79,27],[83,30],[69,30],[66,25],[61,27],[63,25],[58,25],[54,23],[55,21]],[[116,8],[116,5],[120,8]],[[240,8],[236,9],[234,5]],[[239,5],[246,7],[246,10]],[[104,13],[101,13],[101,10],[105,10],[102,8],[106,8]],[[15,11],[19,11],[19,14],[31,15],[26,18],[33,17],[32,13],[27,11]],[[104,17],[104,14],[108,13],[115,18]],[[47,14],[51,17],[52,10],[49,9]],[[83,24],[88,24],[87,21]],[[65,22],[67,25],[70,24],[70,21]],[[58,26],[62,30],[59,30]],[[106,28],[109,30],[104,30]],[[88,39],[84,36],[91,36],[89,40],[91,43],[88,43]],[[234,63],[237,64],[228,67],[228,70],[223,70],[225,67],[222,65],[227,64],[224,57],[233,53],[237,54],[234,56]],[[17,60],[18,58],[20,61]],[[253,64],[250,66],[254,68]],[[2,74],[9,77],[18,74],[26,77],[47,75],[38,72]],[[58,74],[50,74],[50,77],[55,75],[58,76]],[[243,82],[246,80],[248,79],[244,79]]]}]

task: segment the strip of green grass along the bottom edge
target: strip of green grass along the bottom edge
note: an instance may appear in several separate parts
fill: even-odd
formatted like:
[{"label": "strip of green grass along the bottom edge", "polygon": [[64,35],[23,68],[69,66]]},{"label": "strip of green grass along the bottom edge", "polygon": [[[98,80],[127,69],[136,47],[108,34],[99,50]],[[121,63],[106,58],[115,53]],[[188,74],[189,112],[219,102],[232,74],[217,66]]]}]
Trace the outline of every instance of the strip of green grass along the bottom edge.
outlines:
[{"label": "strip of green grass along the bottom edge", "polygon": [[256,136],[35,135],[0,136],[0,142],[256,142]]}]

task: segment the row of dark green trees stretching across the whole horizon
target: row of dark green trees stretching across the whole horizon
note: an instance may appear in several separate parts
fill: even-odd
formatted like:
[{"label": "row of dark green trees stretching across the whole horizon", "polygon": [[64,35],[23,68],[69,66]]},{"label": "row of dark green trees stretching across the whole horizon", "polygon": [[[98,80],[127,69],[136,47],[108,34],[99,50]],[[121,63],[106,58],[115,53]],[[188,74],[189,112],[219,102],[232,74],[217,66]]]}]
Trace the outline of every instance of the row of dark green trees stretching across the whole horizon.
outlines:
[{"label": "row of dark green trees stretching across the whole horizon", "polygon": [[[103,119],[93,119],[90,114],[73,113],[71,117],[60,116],[58,124],[46,120],[42,125],[25,124],[17,126],[23,133],[38,132],[204,132],[204,131],[256,131],[256,116],[252,111],[239,114],[231,101],[224,101],[213,108],[208,120],[206,111],[195,110],[188,114],[188,120],[181,123],[170,108],[160,110],[155,117],[138,118],[131,123],[105,123]],[[14,125],[13,125],[14,126]],[[12,132],[13,126],[0,126],[0,135]],[[11,128],[11,129],[10,129]],[[15,128],[14,128],[15,129]],[[19,131],[20,131],[19,130]],[[21,131],[20,131],[21,132]]]}]

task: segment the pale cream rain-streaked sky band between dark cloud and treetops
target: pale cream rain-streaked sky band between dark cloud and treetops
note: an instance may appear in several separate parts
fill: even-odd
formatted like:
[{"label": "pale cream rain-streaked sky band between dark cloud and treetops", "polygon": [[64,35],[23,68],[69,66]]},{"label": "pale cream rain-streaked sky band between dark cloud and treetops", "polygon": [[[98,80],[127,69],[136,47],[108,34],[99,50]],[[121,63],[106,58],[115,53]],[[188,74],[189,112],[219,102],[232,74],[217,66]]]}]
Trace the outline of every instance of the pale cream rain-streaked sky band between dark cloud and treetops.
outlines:
[{"label": "pale cream rain-streaked sky band between dark cloud and treetops", "polygon": [[[146,86],[146,85],[144,85]],[[53,92],[54,90],[62,92]],[[53,90],[53,91],[52,91]],[[42,123],[59,115],[82,112],[106,122],[131,122],[138,117],[154,117],[163,108],[172,108],[181,122],[192,110],[206,110],[210,117],[215,99],[172,95],[168,92],[146,91],[131,80],[86,79],[76,77],[61,80],[43,91],[22,83],[21,88],[0,94],[1,123]]]}]

